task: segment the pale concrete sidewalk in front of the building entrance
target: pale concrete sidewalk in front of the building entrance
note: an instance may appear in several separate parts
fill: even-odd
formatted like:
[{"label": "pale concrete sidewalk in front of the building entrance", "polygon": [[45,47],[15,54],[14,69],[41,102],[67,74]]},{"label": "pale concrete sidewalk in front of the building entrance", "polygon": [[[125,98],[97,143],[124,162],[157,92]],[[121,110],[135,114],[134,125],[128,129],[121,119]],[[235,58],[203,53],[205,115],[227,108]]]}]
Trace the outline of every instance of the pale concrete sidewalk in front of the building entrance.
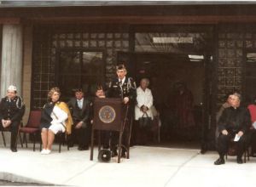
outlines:
[{"label": "pale concrete sidewalk in front of the building entrance", "polygon": [[[90,161],[90,151],[77,147],[57,147],[49,155],[38,148],[18,149],[17,153],[0,145],[0,179],[72,186],[247,186],[256,185],[256,159],[237,164],[230,156],[226,164],[214,166],[216,152],[201,155],[200,150],[160,147],[131,147],[131,158],[117,163]],[[233,178],[233,180],[225,178]]]}]

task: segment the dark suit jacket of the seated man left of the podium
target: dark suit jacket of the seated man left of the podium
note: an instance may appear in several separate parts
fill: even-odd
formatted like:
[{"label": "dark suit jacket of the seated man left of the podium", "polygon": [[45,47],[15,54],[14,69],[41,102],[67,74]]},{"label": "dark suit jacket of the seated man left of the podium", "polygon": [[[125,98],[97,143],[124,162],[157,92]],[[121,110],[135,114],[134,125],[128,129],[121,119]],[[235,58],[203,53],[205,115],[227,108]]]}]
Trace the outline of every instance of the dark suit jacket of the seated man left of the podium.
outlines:
[{"label": "dark suit jacket of the seated man left of the podium", "polygon": [[90,101],[84,98],[83,107],[79,109],[79,105],[76,98],[72,98],[67,103],[73,122],[84,122],[82,127],[86,127],[90,121]]}]

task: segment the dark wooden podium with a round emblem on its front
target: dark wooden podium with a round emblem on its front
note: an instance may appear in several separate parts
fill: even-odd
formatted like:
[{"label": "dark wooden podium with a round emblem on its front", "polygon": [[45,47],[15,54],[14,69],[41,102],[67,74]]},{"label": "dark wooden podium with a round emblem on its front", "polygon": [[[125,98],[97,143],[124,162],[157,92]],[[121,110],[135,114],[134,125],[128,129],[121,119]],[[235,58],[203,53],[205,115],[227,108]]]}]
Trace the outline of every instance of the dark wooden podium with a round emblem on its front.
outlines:
[{"label": "dark wooden podium with a round emblem on its front", "polygon": [[[125,110],[124,110],[125,109]],[[128,114],[128,106],[124,107],[121,99],[96,98],[94,101],[94,117],[91,128],[90,161],[93,160],[94,133],[99,131],[99,151],[101,150],[101,131],[119,132],[118,163],[121,157],[121,141],[124,132],[125,122]],[[131,133],[131,132],[130,132]]]}]

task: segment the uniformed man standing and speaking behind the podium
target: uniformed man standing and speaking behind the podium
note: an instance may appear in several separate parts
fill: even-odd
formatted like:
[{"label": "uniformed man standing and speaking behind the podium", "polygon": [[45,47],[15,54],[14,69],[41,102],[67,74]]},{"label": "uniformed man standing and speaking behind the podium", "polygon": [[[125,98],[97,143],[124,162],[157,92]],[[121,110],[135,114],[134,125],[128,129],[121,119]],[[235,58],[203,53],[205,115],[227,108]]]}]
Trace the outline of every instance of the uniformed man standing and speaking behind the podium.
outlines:
[{"label": "uniformed man standing and speaking behind the podium", "polygon": [[[116,67],[116,74],[117,77],[113,79],[112,82],[109,84],[107,96],[109,98],[120,98],[123,100],[125,104],[125,109],[128,107],[128,120],[125,124],[125,129],[123,133],[122,142],[127,147],[129,143],[129,132],[130,132],[130,125],[131,125],[131,116],[132,110],[134,107],[134,102],[136,100],[136,83],[133,81],[131,77],[126,77],[127,71],[125,65],[118,65]],[[125,111],[125,110],[124,110]],[[112,150],[112,156],[117,156],[117,147],[118,144],[119,133],[112,132],[111,134],[111,145],[110,149]],[[122,150],[122,156],[125,156],[125,149]]]}]

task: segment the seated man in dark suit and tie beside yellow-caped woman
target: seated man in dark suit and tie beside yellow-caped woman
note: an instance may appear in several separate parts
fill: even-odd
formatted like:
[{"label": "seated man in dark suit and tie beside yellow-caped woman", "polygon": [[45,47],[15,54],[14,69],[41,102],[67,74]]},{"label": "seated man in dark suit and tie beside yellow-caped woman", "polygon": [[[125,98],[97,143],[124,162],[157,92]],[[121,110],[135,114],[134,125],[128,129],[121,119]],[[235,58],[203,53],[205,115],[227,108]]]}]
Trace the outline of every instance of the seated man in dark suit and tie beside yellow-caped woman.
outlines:
[{"label": "seated man in dark suit and tie beside yellow-caped woman", "polygon": [[75,90],[75,97],[67,103],[73,117],[72,134],[69,137],[69,144],[77,140],[79,150],[89,149],[90,140],[90,101],[84,98],[82,89]]}]

